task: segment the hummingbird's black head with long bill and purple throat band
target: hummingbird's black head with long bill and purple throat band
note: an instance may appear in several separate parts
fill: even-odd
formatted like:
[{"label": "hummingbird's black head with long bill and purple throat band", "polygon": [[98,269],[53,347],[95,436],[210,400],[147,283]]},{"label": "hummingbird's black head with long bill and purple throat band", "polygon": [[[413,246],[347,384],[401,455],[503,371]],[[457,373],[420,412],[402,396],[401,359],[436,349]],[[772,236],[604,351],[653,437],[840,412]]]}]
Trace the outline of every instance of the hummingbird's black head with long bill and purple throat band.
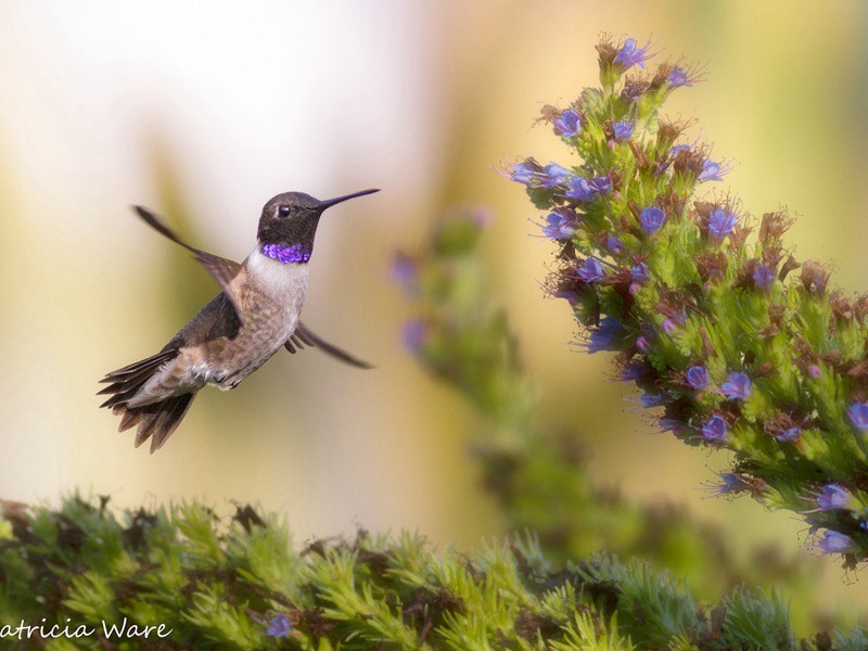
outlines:
[{"label": "hummingbird's black head with long bill and purple throat band", "polygon": [[263,253],[286,263],[306,263],[314,251],[319,218],[326,208],[348,199],[379,192],[362,190],[320,201],[304,192],[284,192],[263,207],[257,238]]}]

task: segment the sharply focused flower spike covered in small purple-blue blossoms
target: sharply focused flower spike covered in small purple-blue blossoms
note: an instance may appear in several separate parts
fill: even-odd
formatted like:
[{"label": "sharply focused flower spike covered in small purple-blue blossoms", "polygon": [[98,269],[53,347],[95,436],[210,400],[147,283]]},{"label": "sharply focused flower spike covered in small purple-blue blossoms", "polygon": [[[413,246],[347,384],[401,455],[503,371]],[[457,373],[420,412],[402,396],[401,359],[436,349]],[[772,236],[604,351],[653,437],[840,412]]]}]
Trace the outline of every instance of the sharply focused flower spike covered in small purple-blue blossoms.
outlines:
[{"label": "sharply focused flower spike covered in small purple-blue blossoms", "polygon": [[559,244],[548,289],[572,307],[582,346],[615,353],[663,430],[732,452],[719,493],[799,513],[809,546],[864,560],[868,297],[795,260],[786,212],[757,224],[735,196],[698,195],[727,165],[681,142],[686,125],[660,111],[699,74],[672,63],[637,74],[649,48],[604,40],[602,88],[542,110],[582,165],[527,158],[507,171]]}]

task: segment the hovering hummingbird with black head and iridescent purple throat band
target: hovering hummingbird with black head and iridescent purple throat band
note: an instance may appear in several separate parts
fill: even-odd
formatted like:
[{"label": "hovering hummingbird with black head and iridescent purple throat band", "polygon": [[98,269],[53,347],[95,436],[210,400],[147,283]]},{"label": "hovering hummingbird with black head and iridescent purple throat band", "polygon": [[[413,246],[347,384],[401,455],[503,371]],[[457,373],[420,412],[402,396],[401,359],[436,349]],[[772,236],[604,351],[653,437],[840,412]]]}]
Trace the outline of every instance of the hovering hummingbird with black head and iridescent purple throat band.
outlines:
[{"label": "hovering hummingbird with black head and iridescent purple throat band", "polygon": [[298,315],[322,212],[373,192],[379,190],[328,201],[302,192],[278,194],[265,204],[256,247],[240,265],[190,246],[156,216],[133,206],[145,224],[191,251],[222,291],[159,353],[100,380],[108,386],[98,395],[111,394],[100,407],[122,416],[118,431],[138,425],[136,447],[150,437],[153,454],[181,422],[200,388],[234,388],[281,347],[294,354],[315,346],[344,362],[371,368],[314,334]]}]

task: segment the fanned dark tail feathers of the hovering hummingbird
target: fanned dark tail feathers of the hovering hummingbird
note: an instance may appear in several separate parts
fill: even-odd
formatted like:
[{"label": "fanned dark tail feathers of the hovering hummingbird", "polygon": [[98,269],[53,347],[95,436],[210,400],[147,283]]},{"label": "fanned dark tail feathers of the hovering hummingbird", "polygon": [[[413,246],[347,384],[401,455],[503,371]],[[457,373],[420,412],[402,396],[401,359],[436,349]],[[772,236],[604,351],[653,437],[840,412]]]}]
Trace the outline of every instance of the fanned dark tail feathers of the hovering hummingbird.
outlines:
[{"label": "fanned dark tail feathers of the hovering hummingbird", "polygon": [[118,432],[125,432],[138,425],[135,445],[139,447],[151,438],[151,452],[163,447],[166,439],[175,432],[187,414],[195,394],[171,396],[165,400],[140,407],[129,407],[127,403],[165,362],[177,354],[177,349],[164,350],[148,359],[112,371],[100,381],[110,383],[97,394],[108,395],[108,399],[100,407],[111,408],[113,413],[122,417]]}]

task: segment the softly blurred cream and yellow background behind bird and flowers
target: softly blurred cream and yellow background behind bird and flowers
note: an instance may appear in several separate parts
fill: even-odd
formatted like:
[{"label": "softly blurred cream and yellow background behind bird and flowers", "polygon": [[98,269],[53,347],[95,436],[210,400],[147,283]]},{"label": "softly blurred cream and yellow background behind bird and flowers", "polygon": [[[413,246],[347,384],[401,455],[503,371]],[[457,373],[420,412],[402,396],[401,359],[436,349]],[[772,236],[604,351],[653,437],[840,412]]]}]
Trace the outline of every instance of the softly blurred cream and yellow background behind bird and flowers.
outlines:
[{"label": "softly blurred cream and yellow background behind bird and flowers", "polygon": [[[636,499],[686,503],[739,544],[804,542],[804,525],[750,500],[705,499],[726,459],[650,435],[610,381],[610,360],[566,345],[574,321],[539,283],[552,247],[494,170],[534,155],[574,163],[544,103],[597,85],[595,43],[649,36],[706,81],[669,115],[735,164],[753,215],[801,215],[801,259],[864,286],[868,7],[807,1],[241,4],[0,3],[0,497],[56,501],[80,488],[115,503],[252,501],[312,535],[419,529],[475,547],[501,533],[468,441],[474,416],[400,343],[410,314],[390,278],[437,214],[490,207],[492,299],[507,306],[552,423],[577,427],[592,473]],[[138,221],[166,216],[234,259],[261,205],[298,190],[376,187],[321,222],[305,321],[376,365],[278,354],[238,390],[202,392],[158,454],[99,410],[97,381],[158,350],[216,285]],[[856,573],[835,559],[817,590],[859,614]],[[863,584],[865,582],[861,582]]]}]

